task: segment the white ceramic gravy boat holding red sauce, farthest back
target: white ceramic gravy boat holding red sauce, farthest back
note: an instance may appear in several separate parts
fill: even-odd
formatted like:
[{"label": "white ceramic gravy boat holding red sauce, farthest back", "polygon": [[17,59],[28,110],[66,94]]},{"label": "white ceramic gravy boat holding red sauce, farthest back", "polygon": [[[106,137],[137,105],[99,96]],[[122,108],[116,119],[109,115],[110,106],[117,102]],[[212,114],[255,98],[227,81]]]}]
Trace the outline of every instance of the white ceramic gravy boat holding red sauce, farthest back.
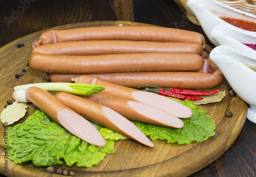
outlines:
[{"label": "white ceramic gravy boat holding red sauce, farthest back", "polygon": [[[219,46],[219,43],[211,37],[211,31],[217,25],[222,24],[230,26],[231,28],[240,29],[238,27],[230,25],[226,21],[219,18],[219,16],[244,19],[256,23],[256,15],[238,10],[236,8],[232,8],[216,0],[188,0],[186,5],[196,15],[205,34],[215,46]],[[251,31],[247,32],[254,33]]]}]

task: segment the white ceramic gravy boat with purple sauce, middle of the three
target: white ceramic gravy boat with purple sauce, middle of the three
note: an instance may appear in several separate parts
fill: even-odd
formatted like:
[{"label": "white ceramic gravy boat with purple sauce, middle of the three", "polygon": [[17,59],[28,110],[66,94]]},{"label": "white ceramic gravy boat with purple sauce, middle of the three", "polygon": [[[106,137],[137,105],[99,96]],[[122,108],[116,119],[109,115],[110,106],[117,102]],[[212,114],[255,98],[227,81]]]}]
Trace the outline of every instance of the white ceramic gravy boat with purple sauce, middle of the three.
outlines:
[{"label": "white ceramic gravy boat with purple sauce, middle of the three", "polygon": [[229,46],[246,54],[256,56],[256,51],[246,44],[256,44],[256,32],[249,32],[240,28],[233,28],[227,25],[217,25],[211,31],[211,37],[219,45]]}]

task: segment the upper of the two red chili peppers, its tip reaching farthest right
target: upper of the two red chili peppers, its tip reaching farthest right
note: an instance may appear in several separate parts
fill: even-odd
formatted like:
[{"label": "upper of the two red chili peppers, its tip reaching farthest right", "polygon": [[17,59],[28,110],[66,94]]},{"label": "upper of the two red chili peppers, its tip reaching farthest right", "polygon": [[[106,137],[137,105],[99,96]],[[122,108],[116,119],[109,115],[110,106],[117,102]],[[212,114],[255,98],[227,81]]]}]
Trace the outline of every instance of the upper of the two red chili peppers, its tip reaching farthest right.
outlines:
[{"label": "upper of the two red chili peppers, its tip reaching farthest right", "polygon": [[176,89],[172,87],[170,91],[177,93],[177,94],[183,94],[183,95],[189,95],[189,96],[207,96],[207,95],[212,95],[220,92],[220,89],[218,90],[213,90],[213,91],[191,91],[191,90],[186,90],[186,89]]}]

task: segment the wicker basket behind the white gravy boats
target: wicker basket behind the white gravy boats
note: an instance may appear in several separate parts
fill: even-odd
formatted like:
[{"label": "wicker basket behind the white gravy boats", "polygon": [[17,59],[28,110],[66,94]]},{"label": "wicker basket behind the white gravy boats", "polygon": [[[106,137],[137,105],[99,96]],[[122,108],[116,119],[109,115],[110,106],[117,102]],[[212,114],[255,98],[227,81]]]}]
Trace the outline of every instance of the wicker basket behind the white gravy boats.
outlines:
[{"label": "wicker basket behind the white gravy boats", "polygon": [[[226,4],[230,7],[249,12],[256,15],[256,0],[218,0],[219,2]],[[196,25],[200,25],[195,14],[187,7],[187,0],[174,0],[180,7],[183,13],[187,16],[189,21]]]}]

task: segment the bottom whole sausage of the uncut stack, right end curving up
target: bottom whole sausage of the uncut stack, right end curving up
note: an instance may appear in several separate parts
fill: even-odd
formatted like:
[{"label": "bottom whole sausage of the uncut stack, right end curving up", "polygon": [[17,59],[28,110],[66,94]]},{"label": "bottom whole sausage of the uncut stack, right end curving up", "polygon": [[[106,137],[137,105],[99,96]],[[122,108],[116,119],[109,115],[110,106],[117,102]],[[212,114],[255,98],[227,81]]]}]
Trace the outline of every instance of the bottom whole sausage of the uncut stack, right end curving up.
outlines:
[{"label": "bottom whole sausage of the uncut stack, right end curving up", "polygon": [[[153,85],[159,87],[177,87],[184,89],[211,89],[212,87],[220,85],[224,76],[222,72],[216,67],[216,65],[209,59],[205,59],[204,67],[199,70],[202,74],[196,72],[156,72],[158,75],[154,75],[152,72],[147,73],[108,73],[108,74],[90,74],[116,84],[124,85],[127,87],[138,87],[140,85]],[[180,74],[180,75],[179,75]],[[72,78],[81,76],[82,74],[54,74],[48,75],[52,82],[72,82]],[[199,77],[199,78],[196,78]],[[146,79],[148,81],[141,81]],[[152,80],[151,80],[152,79]],[[161,82],[164,79],[165,82]],[[145,83],[146,82],[146,83]]]}]

